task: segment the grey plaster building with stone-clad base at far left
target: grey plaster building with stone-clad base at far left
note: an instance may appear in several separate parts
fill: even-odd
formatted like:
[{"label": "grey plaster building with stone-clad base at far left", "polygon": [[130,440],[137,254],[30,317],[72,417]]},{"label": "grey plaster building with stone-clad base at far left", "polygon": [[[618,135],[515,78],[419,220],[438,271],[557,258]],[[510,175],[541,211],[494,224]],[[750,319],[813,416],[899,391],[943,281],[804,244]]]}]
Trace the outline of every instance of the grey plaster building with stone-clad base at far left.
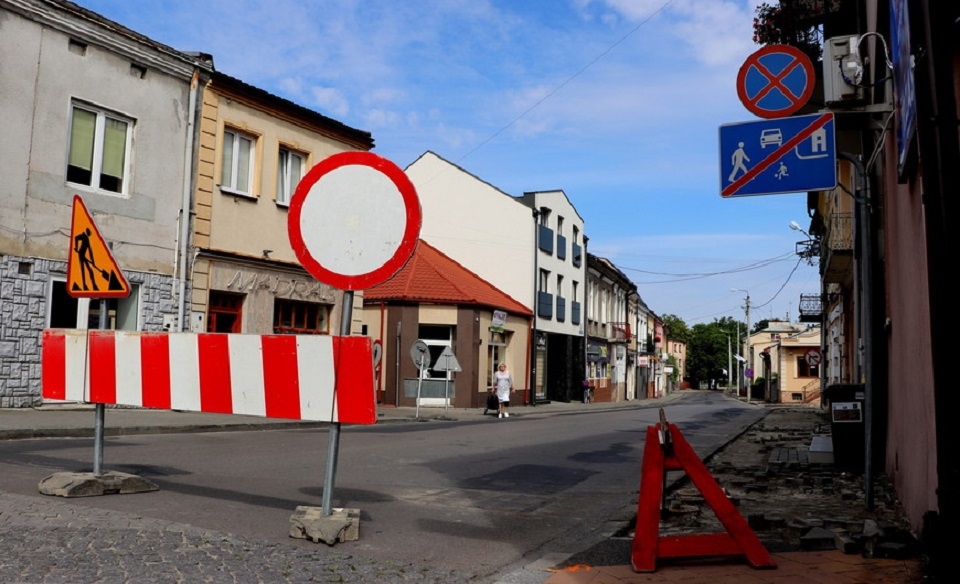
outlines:
[{"label": "grey plaster building with stone-clad base at far left", "polygon": [[55,0],[0,1],[0,55],[0,406],[18,407],[40,401],[41,331],[99,322],[66,288],[75,195],[130,283],[108,326],[175,321],[212,62]]}]

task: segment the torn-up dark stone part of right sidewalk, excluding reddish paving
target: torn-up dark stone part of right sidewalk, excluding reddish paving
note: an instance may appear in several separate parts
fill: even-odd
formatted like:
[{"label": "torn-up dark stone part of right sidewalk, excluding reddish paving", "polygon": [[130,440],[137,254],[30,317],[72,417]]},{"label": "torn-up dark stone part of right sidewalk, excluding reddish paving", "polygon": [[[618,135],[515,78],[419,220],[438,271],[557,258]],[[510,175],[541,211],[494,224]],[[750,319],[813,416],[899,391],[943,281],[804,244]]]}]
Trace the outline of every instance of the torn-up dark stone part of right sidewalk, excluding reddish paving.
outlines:
[{"label": "torn-up dark stone part of right sidewalk, excluding reddish paving", "polygon": [[[774,408],[706,465],[772,552],[829,547],[833,542],[813,540],[811,530],[818,528],[825,531],[813,533],[839,535],[838,547],[844,538],[852,540],[851,553],[867,547],[877,556],[916,555],[918,543],[882,468],[874,480],[873,509],[867,509],[861,473],[811,462],[812,438],[830,433],[829,417],[820,409]],[[871,535],[873,524],[882,538],[867,540],[864,529]],[[683,481],[668,496],[663,532],[690,529],[723,531],[696,487]],[[887,545],[870,548],[880,543]]]}]

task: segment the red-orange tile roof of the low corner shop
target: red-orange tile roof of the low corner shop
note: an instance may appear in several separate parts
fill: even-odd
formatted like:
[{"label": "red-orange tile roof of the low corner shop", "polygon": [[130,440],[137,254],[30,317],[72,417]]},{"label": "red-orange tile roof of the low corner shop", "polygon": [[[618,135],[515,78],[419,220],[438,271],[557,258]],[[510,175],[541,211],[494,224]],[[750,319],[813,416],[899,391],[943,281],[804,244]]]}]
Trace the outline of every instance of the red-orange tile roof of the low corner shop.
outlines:
[{"label": "red-orange tile roof of the low corner shop", "polygon": [[533,315],[526,306],[422,239],[410,261],[386,282],[364,290],[363,300],[474,305]]}]

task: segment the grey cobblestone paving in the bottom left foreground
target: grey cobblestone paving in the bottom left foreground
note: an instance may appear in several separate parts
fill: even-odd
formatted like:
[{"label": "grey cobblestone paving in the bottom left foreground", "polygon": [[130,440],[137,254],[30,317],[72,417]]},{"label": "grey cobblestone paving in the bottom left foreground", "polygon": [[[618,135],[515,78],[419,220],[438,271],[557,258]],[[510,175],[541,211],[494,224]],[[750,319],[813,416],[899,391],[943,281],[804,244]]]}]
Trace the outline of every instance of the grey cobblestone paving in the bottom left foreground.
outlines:
[{"label": "grey cobblestone paving in the bottom left foreground", "polygon": [[0,582],[466,582],[471,574],[255,541],[0,492]]}]

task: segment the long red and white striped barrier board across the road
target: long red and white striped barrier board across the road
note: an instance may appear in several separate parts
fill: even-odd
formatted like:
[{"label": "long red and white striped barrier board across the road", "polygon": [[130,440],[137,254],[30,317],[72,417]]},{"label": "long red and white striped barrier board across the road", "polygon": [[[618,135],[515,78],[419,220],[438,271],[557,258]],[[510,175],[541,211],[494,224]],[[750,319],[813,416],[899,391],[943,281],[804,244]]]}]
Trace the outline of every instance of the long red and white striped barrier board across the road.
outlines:
[{"label": "long red and white striped barrier board across the road", "polygon": [[368,337],[43,331],[44,398],[373,424]]}]

